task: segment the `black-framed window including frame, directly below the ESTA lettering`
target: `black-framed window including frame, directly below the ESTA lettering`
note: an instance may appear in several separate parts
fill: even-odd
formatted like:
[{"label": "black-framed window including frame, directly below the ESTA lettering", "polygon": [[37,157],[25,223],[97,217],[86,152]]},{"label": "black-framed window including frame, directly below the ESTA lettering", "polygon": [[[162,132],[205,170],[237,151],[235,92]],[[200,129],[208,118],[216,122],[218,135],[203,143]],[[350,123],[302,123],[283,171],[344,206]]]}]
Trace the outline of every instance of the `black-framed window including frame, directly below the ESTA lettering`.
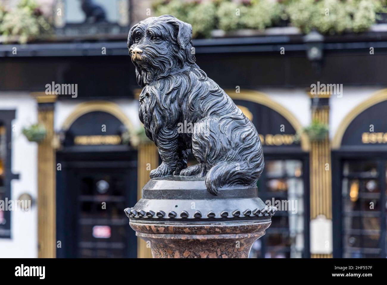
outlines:
[{"label": "black-framed window including frame, directly below the ESTA lettering", "polygon": [[387,152],[373,148],[332,152],[334,258],[386,257]]}]

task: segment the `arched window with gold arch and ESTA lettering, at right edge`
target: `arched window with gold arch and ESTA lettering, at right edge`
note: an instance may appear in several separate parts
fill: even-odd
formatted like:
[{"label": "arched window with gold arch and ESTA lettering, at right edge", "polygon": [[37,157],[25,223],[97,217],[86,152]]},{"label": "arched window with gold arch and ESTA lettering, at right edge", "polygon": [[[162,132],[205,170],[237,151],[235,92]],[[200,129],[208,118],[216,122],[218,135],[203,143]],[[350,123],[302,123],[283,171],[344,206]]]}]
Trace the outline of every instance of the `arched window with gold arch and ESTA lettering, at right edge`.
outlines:
[{"label": "arched window with gold arch and ESTA lettering, at right edge", "polygon": [[332,141],[334,257],[385,258],[387,89],[354,108]]}]

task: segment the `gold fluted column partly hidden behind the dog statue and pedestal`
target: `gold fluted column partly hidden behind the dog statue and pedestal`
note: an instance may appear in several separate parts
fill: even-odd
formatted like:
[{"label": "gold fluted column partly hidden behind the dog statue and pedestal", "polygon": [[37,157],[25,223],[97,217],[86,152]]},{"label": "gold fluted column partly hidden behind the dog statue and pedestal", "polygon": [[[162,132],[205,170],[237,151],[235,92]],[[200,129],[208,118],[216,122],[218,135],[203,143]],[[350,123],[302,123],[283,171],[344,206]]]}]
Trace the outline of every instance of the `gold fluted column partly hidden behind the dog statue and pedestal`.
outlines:
[{"label": "gold fluted column partly hidden behind the dog statue and pedestal", "polygon": [[[149,181],[149,172],[159,166],[159,153],[152,141],[138,146],[137,199],[141,199],[142,187]],[[137,238],[137,258],[152,258],[151,248],[145,240]]]}]

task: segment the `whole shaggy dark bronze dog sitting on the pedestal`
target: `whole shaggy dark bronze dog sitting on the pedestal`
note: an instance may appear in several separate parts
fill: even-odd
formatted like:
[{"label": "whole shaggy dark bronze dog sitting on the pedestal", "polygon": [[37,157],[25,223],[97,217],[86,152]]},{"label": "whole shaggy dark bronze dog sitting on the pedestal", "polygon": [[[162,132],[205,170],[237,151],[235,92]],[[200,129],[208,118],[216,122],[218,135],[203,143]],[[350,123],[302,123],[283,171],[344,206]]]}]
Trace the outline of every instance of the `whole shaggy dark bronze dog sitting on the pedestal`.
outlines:
[{"label": "whole shaggy dark bronze dog sitting on the pedestal", "polygon": [[[143,88],[140,121],[163,160],[150,176],[205,176],[214,195],[224,186],[254,186],[264,168],[257,130],[195,64],[191,37],[191,25],[171,15],[148,18],[129,32]],[[182,124],[193,124],[193,131],[181,132]],[[198,164],[187,168],[188,149]]]}]

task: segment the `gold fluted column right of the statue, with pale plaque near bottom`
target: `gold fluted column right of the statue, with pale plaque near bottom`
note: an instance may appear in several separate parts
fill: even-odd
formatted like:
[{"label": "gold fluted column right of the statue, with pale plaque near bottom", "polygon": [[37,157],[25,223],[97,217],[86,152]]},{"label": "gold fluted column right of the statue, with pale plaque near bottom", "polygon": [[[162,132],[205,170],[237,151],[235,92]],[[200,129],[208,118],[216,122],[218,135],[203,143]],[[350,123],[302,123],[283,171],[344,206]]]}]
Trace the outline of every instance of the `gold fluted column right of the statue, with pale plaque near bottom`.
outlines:
[{"label": "gold fluted column right of the statue, with pale plaque near bottom", "polygon": [[[312,120],[329,124],[329,94],[319,95],[319,103],[312,107]],[[332,172],[329,136],[323,141],[310,142],[310,220],[319,215],[324,215],[328,220],[332,220]],[[310,257],[332,258],[333,255],[311,254]]]}]

